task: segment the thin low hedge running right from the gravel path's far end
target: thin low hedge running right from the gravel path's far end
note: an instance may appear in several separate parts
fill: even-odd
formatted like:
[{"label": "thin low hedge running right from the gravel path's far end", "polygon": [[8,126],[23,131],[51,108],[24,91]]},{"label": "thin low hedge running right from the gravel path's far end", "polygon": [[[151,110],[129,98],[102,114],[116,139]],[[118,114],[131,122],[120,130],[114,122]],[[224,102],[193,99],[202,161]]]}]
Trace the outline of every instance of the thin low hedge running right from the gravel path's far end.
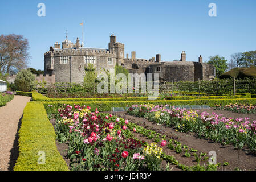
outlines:
[{"label": "thin low hedge running right from the gravel path's far end", "polygon": [[[33,101],[67,101],[67,102],[93,102],[93,101],[145,101],[148,97],[119,97],[119,98],[48,98],[40,93],[32,93]],[[157,97],[156,100],[160,100]]]}]

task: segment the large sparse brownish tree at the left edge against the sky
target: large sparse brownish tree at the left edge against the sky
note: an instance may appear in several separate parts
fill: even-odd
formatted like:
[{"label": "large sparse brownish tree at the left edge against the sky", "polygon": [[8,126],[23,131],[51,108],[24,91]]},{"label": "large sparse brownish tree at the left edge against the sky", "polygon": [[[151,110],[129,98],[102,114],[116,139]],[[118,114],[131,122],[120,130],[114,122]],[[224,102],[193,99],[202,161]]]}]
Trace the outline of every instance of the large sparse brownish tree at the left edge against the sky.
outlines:
[{"label": "large sparse brownish tree at the left edge against the sky", "polygon": [[10,73],[27,68],[29,42],[22,35],[0,36],[0,72]]}]

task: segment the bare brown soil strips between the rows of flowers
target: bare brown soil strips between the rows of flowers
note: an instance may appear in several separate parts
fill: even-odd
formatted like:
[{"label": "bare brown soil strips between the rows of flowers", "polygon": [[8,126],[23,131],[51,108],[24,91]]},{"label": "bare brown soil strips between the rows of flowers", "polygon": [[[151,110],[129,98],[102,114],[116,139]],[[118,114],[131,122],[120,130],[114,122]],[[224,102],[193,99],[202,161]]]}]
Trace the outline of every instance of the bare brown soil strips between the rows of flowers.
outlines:
[{"label": "bare brown soil strips between the rows of flowers", "polygon": [[[214,111],[215,113],[217,113],[217,111],[220,111],[220,110],[209,109],[206,111],[208,112]],[[232,117],[231,115],[236,116],[238,114],[238,113],[231,113],[231,112],[227,113],[227,112],[220,111],[220,113],[225,114],[224,117]],[[251,154],[247,148],[245,148],[244,150],[237,150],[234,148],[234,146],[231,146],[231,145],[224,146],[220,143],[215,143],[208,139],[200,139],[193,133],[180,133],[171,127],[159,125],[157,123],[150,122],[144,118],[133,117],[131,115],[128,115],[126,112],[119,112],[114,114],[118,115],[120,118],[129,119],[129,121],[135,122],[137,125],[143,126],[146,129],[151,129],[153,131],[156,131],[157,133],[166,135],[167,140],[169,138],[175,139],[181,142],[182,145],[185,144],[189,148],[194,148],[198,150],[199,153],[206,152],[206,154],[208,154],[210,151],[216,151],[217,163],[224,163],[224,162],[229,163],[228,166],[219,167],[218,170],[220,171],[234,170],[236,167],[238,167],[241,170],[256,170],[256,158],[255,158],[256,154]],[[243,117],[242,116],[243,114],[239,114],[239,115],[240,115],[239,117]],[[245,115],[245,117],[247,117],[247,115]],[[237,117],[234,117],[234,118],[237,118]],[[147,137],[143,137],[138,133],[135,133],[135,136],[141,140],[147,141],[148,143],[152,142],[152,140],[149,140],[147,139]],[[169,150],[166,146],[162,148],[166,154],[174,155],[174,157],[181,164],[185,164],[186,166],[193,166],[196,164],[194,160],[194,156],[191,156],[190,158],[186,158],[184,156],[184,152],[182,152],[183,154],[182,153],[177,154],[176,152]]]}]

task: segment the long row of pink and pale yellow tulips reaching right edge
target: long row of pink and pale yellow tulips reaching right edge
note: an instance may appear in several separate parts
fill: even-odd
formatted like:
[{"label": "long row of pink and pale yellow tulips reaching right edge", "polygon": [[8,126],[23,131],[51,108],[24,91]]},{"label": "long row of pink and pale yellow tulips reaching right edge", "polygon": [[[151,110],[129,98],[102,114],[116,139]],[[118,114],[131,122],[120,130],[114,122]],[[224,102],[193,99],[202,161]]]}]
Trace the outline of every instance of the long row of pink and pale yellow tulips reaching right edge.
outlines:
[{"label": "long row of pink and pale yellow tulips reaching right edge", "polygon": [[175,127],[177,131],[194,132],[200,138],[224,144],[231,143],[239,149],[247,145],[251,151],[256,150],[256,121],[250,122],[249,118],[226,118],[222,114],[199,113],[175,107],[166,109],[167,106],[169,105],[133,105],[127,112]]}]

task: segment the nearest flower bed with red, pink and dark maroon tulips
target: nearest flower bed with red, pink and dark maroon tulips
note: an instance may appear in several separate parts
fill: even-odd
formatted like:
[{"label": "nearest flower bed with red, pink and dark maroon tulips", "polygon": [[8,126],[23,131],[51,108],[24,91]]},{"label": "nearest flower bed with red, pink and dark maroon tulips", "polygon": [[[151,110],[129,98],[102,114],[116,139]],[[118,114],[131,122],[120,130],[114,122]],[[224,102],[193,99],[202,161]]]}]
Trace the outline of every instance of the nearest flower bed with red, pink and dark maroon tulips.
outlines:
[{"label": "nearest flower bed with red, pink and dark maroon tulips", "polygon": [[128,120],[92,111],[90,106],[65,104],[55,119],[58,140],[68,142],[72,170],[160,169],[162,149],[133,138]]}]

